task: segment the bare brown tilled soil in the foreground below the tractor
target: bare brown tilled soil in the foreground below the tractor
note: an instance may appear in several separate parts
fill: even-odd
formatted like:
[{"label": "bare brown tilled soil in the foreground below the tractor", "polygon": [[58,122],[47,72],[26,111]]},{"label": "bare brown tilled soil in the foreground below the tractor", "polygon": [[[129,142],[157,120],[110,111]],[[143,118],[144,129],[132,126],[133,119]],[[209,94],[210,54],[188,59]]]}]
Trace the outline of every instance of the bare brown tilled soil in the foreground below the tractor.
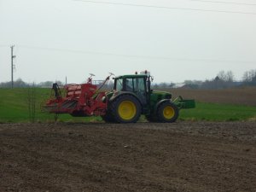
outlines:
[{"label": "bare brown tilled soil in the foreground below the tractor", "polygon": [[0,191],[256,191],[255,122],[0,125]]}]

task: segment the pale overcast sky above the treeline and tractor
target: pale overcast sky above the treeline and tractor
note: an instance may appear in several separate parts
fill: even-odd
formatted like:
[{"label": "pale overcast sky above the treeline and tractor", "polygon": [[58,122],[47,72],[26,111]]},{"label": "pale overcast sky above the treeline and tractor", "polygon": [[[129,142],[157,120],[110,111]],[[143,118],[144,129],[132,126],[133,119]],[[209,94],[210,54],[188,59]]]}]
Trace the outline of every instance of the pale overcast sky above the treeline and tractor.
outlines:
[{"label": "pale overcast sky above the treeline and tractor", "polygon": [[[135,6],[137,5],[137,6]],[[143,5],[143,6],[142,6]],[[254,0],[0,0],[0,82],[82,83],[148,70],[154,82],[256,69]]]}]

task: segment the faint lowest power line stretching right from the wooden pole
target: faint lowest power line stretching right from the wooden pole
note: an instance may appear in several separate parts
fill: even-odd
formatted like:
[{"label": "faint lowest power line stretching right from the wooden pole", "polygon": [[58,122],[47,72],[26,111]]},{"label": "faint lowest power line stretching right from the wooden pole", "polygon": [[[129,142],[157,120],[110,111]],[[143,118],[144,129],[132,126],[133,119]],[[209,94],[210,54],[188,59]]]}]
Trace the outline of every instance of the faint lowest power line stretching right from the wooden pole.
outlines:
[{"label": "faint lowest power line stretching right from the wooden pole", "polygon": [[204,62],[224,62],[224,63],[256,63],[256,61],[232,61],[232,60],[214,60],[214,59],[191,59],[191,58],[178,58],[178,57],[166,57],[166,56],[150,56],[150,55],[125,55],[125,54],[115,54],[106,52],[96,52],[96,51],[86,51],[86,50],[75,50],[75,49],[57,49],[57,48],[44,48],[37,46],[27,46],[19,45],[20,48],[26,49],[45,49],[54,50],[61,52],[70,52],[76,54],[87,54],[87,55],[109,55],[109,56],[119,56],[126,58],[139,58],[139,59],[151,59],[151,60],[167,60],[167,61],[204,61]]}]

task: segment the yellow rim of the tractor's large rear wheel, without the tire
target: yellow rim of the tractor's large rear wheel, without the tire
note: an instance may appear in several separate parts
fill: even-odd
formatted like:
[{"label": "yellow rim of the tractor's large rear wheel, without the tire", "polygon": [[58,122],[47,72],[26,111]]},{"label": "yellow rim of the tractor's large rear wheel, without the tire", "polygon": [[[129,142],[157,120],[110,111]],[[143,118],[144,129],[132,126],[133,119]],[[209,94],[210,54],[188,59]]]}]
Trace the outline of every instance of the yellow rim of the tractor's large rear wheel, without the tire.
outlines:
[{"label": "yellow rim of the tractor's large rear wheel, without the tire", "polygon": [[118,112],[120,118],[130,120],[136,115],[137,108],[133,102],[124,101],[119,104]]}]

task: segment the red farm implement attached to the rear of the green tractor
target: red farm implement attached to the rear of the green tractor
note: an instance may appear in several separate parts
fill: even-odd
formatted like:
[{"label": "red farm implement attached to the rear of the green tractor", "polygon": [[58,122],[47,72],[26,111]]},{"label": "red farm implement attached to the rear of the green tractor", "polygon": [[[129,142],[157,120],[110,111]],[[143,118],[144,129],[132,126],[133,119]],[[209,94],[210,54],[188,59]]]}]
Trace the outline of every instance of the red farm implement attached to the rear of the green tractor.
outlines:
[{"label": "red farm implement attached to the rear of the green tractor", "polygon": [[[110,76],[105,80],[105,84]],[[106,92],[99,92],[91,80],[86,84],[68,84],[64,86],[66,96],[61,96],[58,84],[53,84],[55,96],[51,97],[44,109],[49,113],[69,113],[76,117],[104,115],[107,109]]]}]

